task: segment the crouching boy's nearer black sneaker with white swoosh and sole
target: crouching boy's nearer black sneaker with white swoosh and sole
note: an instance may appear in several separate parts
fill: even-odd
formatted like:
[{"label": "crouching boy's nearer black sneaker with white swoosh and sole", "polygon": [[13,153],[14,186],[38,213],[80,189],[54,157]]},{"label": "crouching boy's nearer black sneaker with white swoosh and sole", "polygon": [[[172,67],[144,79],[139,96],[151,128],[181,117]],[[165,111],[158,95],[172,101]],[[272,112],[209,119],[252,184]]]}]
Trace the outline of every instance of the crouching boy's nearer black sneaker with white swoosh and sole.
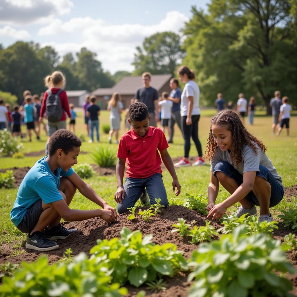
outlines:
[{"label": "crouching boy's nearer black sneaker with white swoosh and sole", "polygon": [[59,245],[48,239],[43,232],[35,231],[31,237],[27,235],[26,242],[27,249],[34,249],[36,251],[52,251],[53,249],[59,249]]}]

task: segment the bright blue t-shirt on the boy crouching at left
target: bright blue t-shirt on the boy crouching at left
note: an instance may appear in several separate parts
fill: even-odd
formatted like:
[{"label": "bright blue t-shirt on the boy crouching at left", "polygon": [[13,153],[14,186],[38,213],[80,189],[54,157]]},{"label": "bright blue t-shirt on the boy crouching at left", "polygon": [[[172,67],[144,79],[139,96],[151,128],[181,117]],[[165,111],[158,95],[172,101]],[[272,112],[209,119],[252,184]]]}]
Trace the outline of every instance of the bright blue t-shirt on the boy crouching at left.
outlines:
[{"label": "bright blue t-shirt on the boy crouching at left", "polygon": [[15,226],[20,224],[28,208],[36,201],[42,199],[47,204],[63,199],[58,190],[60,176],[71,176],[74,170],[70,168],[68,171],[64,171],[58,167],[55,173],[52,173],[46,158],[47,156],[38,160],[20,184],[17,199],[10,211],[10,219]]}]

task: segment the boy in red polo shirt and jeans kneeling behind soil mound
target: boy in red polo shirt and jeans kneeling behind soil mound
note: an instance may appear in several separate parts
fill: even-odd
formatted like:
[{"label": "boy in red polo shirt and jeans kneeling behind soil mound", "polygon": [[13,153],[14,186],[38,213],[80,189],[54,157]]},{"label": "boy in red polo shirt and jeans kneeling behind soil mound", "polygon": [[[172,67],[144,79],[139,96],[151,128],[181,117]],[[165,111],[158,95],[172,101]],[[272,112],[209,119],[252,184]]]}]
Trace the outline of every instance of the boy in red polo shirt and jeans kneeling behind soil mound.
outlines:
[{"label": "boy in red polo shirt and jeans kneeling behind soil mound", "polygon": [[[128,122],[132,129],[122,135],[116,155],[119,158],[116,164],[118,189],[114,199],[118,203],[117,211],[120,214],[134,206],[139,198],[142,204],[149,200],[150,204],[154,204],[155,198],[161,198],[161,204],[168,206],[162,180],[161,158],[173,178],[175,195],[178,196],[181,192],[172,159],[167,151],[165,135],[160,128],[150,127],[149,121],[149,111],[143,102],[130,105]],[[126,161],[127,171],[123,185]]]}]

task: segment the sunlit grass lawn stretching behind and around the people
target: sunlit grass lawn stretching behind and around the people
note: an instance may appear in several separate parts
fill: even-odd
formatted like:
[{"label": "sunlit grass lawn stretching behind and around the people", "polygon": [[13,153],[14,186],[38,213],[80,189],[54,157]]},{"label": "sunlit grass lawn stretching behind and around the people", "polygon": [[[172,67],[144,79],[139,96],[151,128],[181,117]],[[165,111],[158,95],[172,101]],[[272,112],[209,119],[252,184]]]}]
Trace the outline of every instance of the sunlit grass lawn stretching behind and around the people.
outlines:
[{"label": "sunlit grass lawn stretching behind and around the people", "polygon": [[[209,125],[211,117],[215,114],[215,110],[202,110],[200,122],[199,122],[199,138],[202,147],[205,148],[206,141],[209,133]],[[297,160],[297,131],[294,129],[297,127],[297,112],[294,111],[290,120],[290,136],[286,136],[285,129],[283,129],[282,134],[279,137],[271,136],[271,117],[264,116],[263,112],[256,112],[254,119],[254,125],[247,125],[247,129],[252,132],[256,137],[260,138],[263,143],[267,146],[267,152],[269,159],[271,159],[273,165],[277,168],[277,172],[282,176],[283,184],[285,187],[291,187],[297,184],[296,176],[296,160]],[[68,121],[68,120],[67,120]],[[102,111],[100,115],[100,124],[109,122],[109,112]],[[22,127],[25,132],[25,127]],[[42,131],[44,133],[44,131]],[[123,134],[125,130],[121,130]],[[78,119],[76,125],[76,134],[79,135],[83,133],[86,135],[86,128],[83,124],[82,111],[78,112]],[[81,146],[81,151],[91,152],[95,147],[99,145],[108,145],[107,142],[108,135],[104,134],[100,129],[100,143],[88,143],[83,142]],[[45,142],[47,136],[41,134],[41,141],[32,138],[33,142],[29,143],[28,139],[25,138],[23,145],[25,147],[24,153],[32,151],[41,151],[45,147]],[[117,149],[117,144],[111,144],[115,149]],[[178,127],[175,131],[174,143],[170,145],[168,149],[171,157],[181,157],[183,156],[183,139],[181,132]],[[195,151],[195,146],[192,143],[190,156],[195,156],[197,152]],[[14,159],[10,157],[1,157],[0,169],[11,168],[11,167],[25,167],[33,166],[34,163],[40,159],[40,157],[25,157],[23,159]],[[78,157],[79,163],[93,163],[90,154],[81,154]],[[75,170],[75,166],[74,166]],[[189,194],[203,194],[207,196],[207,186],[209,182],[210,175],[210,165],[207,162],[206,166],[202,167],[186,167],[178,168],[177,175],[179,182],[181,184],[181,194],[178,198],[175,197],[172,191],[172,179],[167,170],[163,172],[163,180],[165,187],[167,189],[168,199],[177,199],[179,201],[186,200],[186,193]],[[116,206],[116,202],[113,200],[113,194],[116,191],[116,176],[93,176],[92,178],[86,180],[91,187],[93,187],[99,195],[106,200],[110,205]],[[17,195],[18,189],[0,189],[0,244],[13,243],[15,247],[15,253],[18,252],[18,247],[24,244],[24,239],[26,234],[18,231],[12,222],[10,221],[10,210],[13,206]],[[222,187],[219,190],[219,196],[217,202],[223,201],[228,197],[228,193]],[[293,197],[290,202],[285,198],[279,205],[272,208],[271,213],[274,215],[274,219],[277,219],[277,214],[280,213],[281,209],[287,209],[289,207],[296,208],[296,197]],[[239,205],[239,204],[238,204]],[[92,209],[96,208],[96,205],[91,201],[84,198],[79,192],[74,196],[74,199],[70,205],[71,208],[78,209]],[[237,205],[228,209],[228,212],[236,210]],[[1,252],[1,246],[0,246]]]}]

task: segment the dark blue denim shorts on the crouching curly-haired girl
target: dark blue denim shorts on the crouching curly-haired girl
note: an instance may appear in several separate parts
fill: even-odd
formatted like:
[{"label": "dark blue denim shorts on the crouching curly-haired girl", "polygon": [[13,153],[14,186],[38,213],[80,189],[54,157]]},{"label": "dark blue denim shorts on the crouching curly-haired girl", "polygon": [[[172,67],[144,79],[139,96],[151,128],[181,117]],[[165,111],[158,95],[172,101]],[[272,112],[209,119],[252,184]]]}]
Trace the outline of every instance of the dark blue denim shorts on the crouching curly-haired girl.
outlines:
[{"label": "dark blue denim shorts on the crouching curly-haired girl", "polygon": [[[270,184],[271,196],[270,196],[269,207],[274,207],[277,204],[279,204],[279,202],[282,201],[282,198],[284,196],[284,188],[265,166],[260,165],[259,168],[260,168],[260,171],[257,171],[256,176],[261,176],[265,178],[265,180],[268,181],[268,183]],[[243,176],[228,162],[221,161],[214,166],[215,178],[217,178],[217,175],[216,175],[217,171],[221,171],[222,173],[226,174],[228,177],[235,179],[238,186],[240,186],[243,182]],[[253,191],[250,191],[247,194],[246,198],[253,205],[260,206],[260,203]]]}]

